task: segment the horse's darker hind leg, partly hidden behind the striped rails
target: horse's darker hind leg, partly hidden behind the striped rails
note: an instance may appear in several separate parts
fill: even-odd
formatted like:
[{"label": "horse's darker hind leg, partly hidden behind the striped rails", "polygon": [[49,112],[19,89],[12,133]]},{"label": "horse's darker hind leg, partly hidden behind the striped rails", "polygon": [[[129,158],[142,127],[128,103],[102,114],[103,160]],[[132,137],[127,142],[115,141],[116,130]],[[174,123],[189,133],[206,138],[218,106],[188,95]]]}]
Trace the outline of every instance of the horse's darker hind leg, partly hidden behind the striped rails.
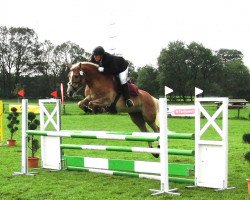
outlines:
[{"label": "horse's darker hind leg, partly hidden behind the striped rails", "polygon": [[[129,113],[129,115],[130,115],[132,121],[139,127],[141,132],[148,132],[148,129],[146,127],[146,122],[145,122],[141,112]],[[159,130],[159,128],[157,129],[157,126],[154,128],[155,128],[155,130]],[[154,128],[152,128],[152,129],[154,130]],[[153,148],[152,142],[148,142],[148,147]],[[152,154],[152,155],[156,158],[159,157],[159,154]]]}]

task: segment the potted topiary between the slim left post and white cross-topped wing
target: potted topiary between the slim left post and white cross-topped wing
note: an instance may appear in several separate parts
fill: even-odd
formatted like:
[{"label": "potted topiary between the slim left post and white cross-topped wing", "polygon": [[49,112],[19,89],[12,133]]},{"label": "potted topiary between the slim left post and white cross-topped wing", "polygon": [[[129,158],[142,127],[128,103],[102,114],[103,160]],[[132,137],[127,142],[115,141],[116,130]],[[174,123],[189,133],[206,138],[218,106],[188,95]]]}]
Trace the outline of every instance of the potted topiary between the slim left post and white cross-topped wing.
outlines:
[{"label": "potted topiary between the slim left post and white cross-topped wing", "polygon": [[[36,130],[40,125],[40,121],[36,119],[36,115],[33,112],[28,113],[28,129]],[[34,138],[33,135],[28,137],[28,147],[31,150],[31,156],[28,157],[28,167],[38,168],[39,157],[36,157],[35,154],[40,148],[39,140]]]}]

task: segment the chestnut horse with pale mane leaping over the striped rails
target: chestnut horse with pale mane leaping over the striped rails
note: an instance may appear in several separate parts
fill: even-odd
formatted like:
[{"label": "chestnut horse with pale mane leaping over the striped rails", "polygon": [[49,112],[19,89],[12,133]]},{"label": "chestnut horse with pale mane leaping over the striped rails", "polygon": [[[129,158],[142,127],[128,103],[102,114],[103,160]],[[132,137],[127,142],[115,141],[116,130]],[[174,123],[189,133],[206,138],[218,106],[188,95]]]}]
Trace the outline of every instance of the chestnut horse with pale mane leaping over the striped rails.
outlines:
[{"label": "chestnut horse with pale mane leaping over the striped rails", "polygon": [[[159,110],[158,99],[154,98],[146,91],[139,89],[138,96],[131,97],[134,106],[127,108],[124,98],[122,96],[117,96],[119,91],[114,81],[114,77],[112,75],[100,73],[97,68],[98,65],[90,62],[81,62],[72,65],[69,72],[67,95],[71,96],[73,91],[86,85],[85,99],[78,102],[81,109],[84,109],[86,106],[90,108],[106,108],[111,106],[116,99],[116,111],[127,112],[141,132],[148,132],[146,123],[154,132],[159,132],[159,127],[156,124]],[[152,147],[151,142],[149,142],[149,147]],[[153,155],[155,157],[159,156],[158,154]]]}]

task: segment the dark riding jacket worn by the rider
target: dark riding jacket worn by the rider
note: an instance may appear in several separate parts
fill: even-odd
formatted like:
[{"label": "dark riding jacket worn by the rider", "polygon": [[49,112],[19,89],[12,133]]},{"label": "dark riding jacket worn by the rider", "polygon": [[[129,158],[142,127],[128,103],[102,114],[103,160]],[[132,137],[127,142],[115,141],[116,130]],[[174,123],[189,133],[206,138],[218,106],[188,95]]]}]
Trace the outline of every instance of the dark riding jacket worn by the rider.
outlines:
[{"label": "dark riding jacket worn by the rider", "polygon": [[123,57],[114,56],[107,52],[104,53],[102,60],[98,63],[94,59],[94,55],[91,56],[90,62],[99,64],[100,67],[104,68],[104,73],[118,75],[128,68],[128,61]]}]

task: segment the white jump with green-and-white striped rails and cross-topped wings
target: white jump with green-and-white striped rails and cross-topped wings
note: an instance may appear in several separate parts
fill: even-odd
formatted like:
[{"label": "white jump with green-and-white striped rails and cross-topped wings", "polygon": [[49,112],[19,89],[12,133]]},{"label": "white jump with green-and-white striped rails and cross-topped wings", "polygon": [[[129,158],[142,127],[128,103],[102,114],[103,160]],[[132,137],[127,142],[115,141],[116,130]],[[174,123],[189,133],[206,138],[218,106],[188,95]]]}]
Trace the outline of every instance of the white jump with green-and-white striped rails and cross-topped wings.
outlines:
[{"label": "white jump with green-and-white striped rails and cross-topped wings", "polygon": [[[221,101],[222,105],[210,116],[201,105],[202,102]],[[194,156],[193,150],[168,149],[168,139],[194,139],[194,134],[168,133],[167,130],[167,101],[159,100],[160,133],[141,132],[108,132],[108,131],[61,131],[60,100],[39,100],[40,106],[40,131],[27,130],[27,105],[28,100],[22,101],[22,168],[16,174],[29,174],[27,167],[27,136],[41,136],[42,167],[46,169],[61,170],[64,165],[68,170],[89,171],[112,175],[132,176],[160,180],[160,190],[152,190],[154,194],[171,193],[179,194],[169,189],[169,181],[194,184],[195,186],[216,189],[227,189],[228,176],[228,98],[198,98],[195,99],[195,178],[187,179],[174,176],[189,176],[194,170],[192,164],[168,163],[169,155]],[[53,104],[51,113],[46,109],[47,104]],[[222,127],[215,119],[222,114]],[[207,123],[201,125],[201,115],[205,116]],[[56,116],[56,117],[55,117]],[[55,118],[55,119],[54,119]],[[52,125],[55,131],[48,131]],[[221,140],[207,140],[202,137],[205,131],[214,127]],[[50,127],[51,128],[51,127]],[[168,137],[166,137],[168,135]],[[62,144],[61,138],[87,138],[109,139],[138,142],[158,141],[160,148],[104,146],[104,145],[76,145]],[[80,156],[62,156],[63,149],[99,150],[117,152],[140,152],[160,154],[160,162],[134,161],[122,159],[92,158]],[[168,153],[167,153],[168,152]],[[168,173],[167,173],[168,172]]]}]

